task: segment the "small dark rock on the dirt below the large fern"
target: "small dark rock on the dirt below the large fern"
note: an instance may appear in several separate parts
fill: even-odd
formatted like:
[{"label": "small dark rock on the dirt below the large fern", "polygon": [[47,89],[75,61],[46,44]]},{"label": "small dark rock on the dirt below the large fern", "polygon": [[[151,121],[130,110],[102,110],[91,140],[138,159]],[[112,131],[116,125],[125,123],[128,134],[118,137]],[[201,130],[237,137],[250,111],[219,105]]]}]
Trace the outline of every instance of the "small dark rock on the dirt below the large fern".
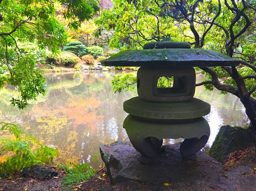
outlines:
[{"label": "small dark rock on the dirt below the large fern", "polygon": [[51,179],[58,175],[57,171],[42,167],[41,165],[33,165],[31,167],[26,167],[22,171],[23,176],[38,179]]}]

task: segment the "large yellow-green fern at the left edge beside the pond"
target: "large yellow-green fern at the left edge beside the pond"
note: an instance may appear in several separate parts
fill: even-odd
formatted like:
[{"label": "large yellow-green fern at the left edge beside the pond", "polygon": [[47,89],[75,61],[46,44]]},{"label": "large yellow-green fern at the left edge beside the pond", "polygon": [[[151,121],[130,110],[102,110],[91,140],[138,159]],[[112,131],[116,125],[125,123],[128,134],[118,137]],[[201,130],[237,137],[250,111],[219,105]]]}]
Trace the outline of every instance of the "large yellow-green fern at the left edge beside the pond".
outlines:
[{"label": "large yellow-green fern at the left edge beside the pond", "polygon": [[[20,169],[39,163],[53,162],[55,156],[59,155],[56,149],[42,145],[34,137],[22,134],[22,130],[15,124],[0,122],[0,130],[8,131],[14,135],[14,139],[0,139],[0,156],[8,156],[0,163],[0,175],[8,176]],[[30,145],[36,150],[31,151]]]}]

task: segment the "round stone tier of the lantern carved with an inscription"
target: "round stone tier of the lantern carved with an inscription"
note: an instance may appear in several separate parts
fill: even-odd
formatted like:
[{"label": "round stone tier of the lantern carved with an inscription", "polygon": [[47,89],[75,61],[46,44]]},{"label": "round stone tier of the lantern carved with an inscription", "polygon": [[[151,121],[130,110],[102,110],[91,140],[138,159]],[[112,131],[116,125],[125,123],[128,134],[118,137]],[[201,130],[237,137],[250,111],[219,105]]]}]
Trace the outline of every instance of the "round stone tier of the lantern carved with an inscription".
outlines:
[{"label": "round stone tier of the lantern carved with an inscription", "polygon": [[124,102],[124,110],[151,119],[193,119],[208,115],[211,105],[197,98],[181,103],[154,103],[134,97]]}]

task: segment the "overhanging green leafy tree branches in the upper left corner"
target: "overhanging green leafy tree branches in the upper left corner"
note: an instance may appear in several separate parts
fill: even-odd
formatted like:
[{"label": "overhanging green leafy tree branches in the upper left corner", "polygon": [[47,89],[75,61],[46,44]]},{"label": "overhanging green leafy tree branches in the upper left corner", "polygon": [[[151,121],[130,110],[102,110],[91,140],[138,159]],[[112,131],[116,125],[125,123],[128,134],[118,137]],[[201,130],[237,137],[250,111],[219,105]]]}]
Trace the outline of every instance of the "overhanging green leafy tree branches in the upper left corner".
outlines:
[{"label": "overhanging green leafy tree branches in the upper left corner", "polygon": [[45,93],[45,81],[34,68],[34,56],[19,49],[17,42],[36,42],[41,49],[47,47],[52,52],[67,43],[63,24],[55,18],[55,3],[65,7],[63,16],[72,29],[99,10],[97,0],[0,0],[0,70],[7,71],[0,76],[0,88],[6,81],[17,87],[19,97],[11,101],[20,109],[28,106],[28,100]]}]

